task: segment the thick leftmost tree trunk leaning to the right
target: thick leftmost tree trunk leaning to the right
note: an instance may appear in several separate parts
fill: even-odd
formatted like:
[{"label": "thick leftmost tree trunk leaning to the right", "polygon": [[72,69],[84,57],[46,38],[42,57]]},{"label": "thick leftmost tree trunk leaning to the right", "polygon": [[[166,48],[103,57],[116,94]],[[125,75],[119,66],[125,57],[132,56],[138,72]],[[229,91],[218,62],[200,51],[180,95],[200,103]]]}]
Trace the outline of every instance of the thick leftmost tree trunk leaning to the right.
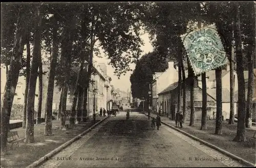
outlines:
[{"label": "thick leftmost tree trunk leaning to the right", "polygon": [[7,153],[7,133],[9,130],[9,120],[24,50],[24,26],[22,21],[24,18],[20,18],[24,16],[19,14],[17,17],[13,53],[10,59],[9,73],[6,81],[3,104],[1,107],[1,155],[5,155]]}]

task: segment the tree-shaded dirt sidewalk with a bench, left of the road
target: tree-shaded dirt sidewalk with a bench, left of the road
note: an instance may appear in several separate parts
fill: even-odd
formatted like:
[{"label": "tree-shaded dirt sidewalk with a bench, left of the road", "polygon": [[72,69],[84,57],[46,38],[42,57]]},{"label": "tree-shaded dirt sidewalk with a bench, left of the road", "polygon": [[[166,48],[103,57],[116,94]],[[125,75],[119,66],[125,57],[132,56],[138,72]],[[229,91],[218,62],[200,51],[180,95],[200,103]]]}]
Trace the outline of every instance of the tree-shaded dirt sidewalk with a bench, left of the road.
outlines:
[{"label": "tree-shaded dirt sidewalk with a bench, left of the road", "polygon": [[[96,123],[103,118],[105,117],[96,116]],[[12,149],[10,149],[11,145],[8,145],[8,155],[1,156],[1,167],[26,167],[94,125],[91,117],[90,121],[86,123],[75,125],[67,131],[61,131],[59,130],[59,122],[52,121],[53,135],[51,136],[44,135],[45,123],[41,123],[40,125],[34,125],[34,143],[25,144],[20,142],[20,146],[14,144]],[[66,121],[66,124],[68,123],[69,121]],[[17,131],[20,138],[25,137],[24,128],[11,131]]]}]

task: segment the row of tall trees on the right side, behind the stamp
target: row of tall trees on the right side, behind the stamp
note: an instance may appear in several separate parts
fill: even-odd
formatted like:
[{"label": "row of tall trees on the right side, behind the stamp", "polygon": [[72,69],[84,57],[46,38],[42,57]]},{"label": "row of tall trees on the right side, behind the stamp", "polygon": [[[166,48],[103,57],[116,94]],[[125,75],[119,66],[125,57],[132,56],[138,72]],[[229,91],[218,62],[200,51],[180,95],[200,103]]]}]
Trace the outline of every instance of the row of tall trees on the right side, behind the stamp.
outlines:
[{"label": "row of tall trees on the right side, behind the stamp", "polygon": [[[183,90],[183,116],[186,118],[186,92],[184,63],[186,51],[183,48],[180,35],[190,32],[195,28],[201,28],[201,24],[215,23],[221,36],[226,56],[230,64],[230,119],[229,124],[234,123],[234,90],[233,71],[236,63],[238,74],[238,128],[235,141],[245,141],[245,127],[251,126],[252,116],[252,92],[253,92],[253,59],[255,59],[255,3],[253,2],[207,2],[207,3],[148,3],[141,19],[144,26],[151,34],[157,54],[163,58],[175,59],[179,62],[179,95],[178,111],[181,109],[181,91]],[[195,23],[197,22],[197,27]],[[255,61],[255,60],[254,60]],[[188,63],[188,62],[187,62]],[[248,65],[248,66],[247,66]],[[188,66],[188,79],[190,81],[190,122],[194,126],[194,83],[197,77]],[[247,66],[247,67],[246,67]],[[244,69],[249,70],[247,104],[245,101]],[[217,95],[217,119],[216,134],[222,134],[222,68],[216,69],[216,95]],[[155,70],[155,69],[152,69]],[[136,73],[134,71],[134,73]],[[207,95],[206,75],[202,77],[202,125],[201,129],[207,129]],[[131,78],[134,78],[133,75]],[[131,82],[133,82],[131,80]],[[143,84],[140,84],[143,85]],[[134,89],[135,90],[135,89]],[[133,93],[135,95],[135,93]],[[136,95],[135,95],[136,96]],[[184,119],[186,121],[186,119]]]}]

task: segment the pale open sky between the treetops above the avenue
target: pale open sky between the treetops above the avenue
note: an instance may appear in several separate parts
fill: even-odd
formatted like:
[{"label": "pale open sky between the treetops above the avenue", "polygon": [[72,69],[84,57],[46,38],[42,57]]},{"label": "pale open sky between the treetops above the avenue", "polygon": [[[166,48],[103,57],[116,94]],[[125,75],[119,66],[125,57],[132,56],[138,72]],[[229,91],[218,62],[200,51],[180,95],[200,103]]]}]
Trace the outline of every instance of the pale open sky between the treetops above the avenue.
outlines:
[{"label": "pale open sky between the treetops above the avenue", "polygon": [[[153,51],[153,46],[151,44],[151,40],[149,38],[149,34],[145,33],[143,35],[141,35],[141,39],[144,42],[144,45],[141,46],[141,50],[142,53],[140,55],[140,57],[142,57],[144,54],[147,54],[148,52],[152,52]],[[123,91],[127,91],[127,89],[129,89],[129,91],[131,90],[131,82],[130,82],[130,76],[133,73],[133,71],[127,71],[127,73],[125,75],[121,75],[120,79],[118,79],[117,76],[114,75],[114,71],[115,69],[111,66],[108,65],[108,62],[110,62],[109,59],[106,59],[107,57],[104,55],[103,52],[101,52],[101,57],[102,58],[98,58],[96,56],[94,56],[94,60],[97,61],[98,63],[102,63],[104,62],[107,66],[107,74],[109,77],[111,77],[112,81],[111,83],[114,85],[115,88],[119,88],[120,90]],[[130,64],[130,68],[131,69],[135,69],[136,64]]]}]

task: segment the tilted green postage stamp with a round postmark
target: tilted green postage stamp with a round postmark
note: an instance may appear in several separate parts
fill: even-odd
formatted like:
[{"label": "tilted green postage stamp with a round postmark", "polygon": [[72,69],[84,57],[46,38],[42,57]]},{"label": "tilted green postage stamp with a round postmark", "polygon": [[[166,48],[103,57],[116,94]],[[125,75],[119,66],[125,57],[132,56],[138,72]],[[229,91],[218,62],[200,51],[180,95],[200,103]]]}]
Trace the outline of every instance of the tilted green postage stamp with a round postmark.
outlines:
[{"label": "tilted green postage stamp with a round postmark", "polygon": [[214,25],[181,35],[195,75],[227,63],[221,38]]}]

